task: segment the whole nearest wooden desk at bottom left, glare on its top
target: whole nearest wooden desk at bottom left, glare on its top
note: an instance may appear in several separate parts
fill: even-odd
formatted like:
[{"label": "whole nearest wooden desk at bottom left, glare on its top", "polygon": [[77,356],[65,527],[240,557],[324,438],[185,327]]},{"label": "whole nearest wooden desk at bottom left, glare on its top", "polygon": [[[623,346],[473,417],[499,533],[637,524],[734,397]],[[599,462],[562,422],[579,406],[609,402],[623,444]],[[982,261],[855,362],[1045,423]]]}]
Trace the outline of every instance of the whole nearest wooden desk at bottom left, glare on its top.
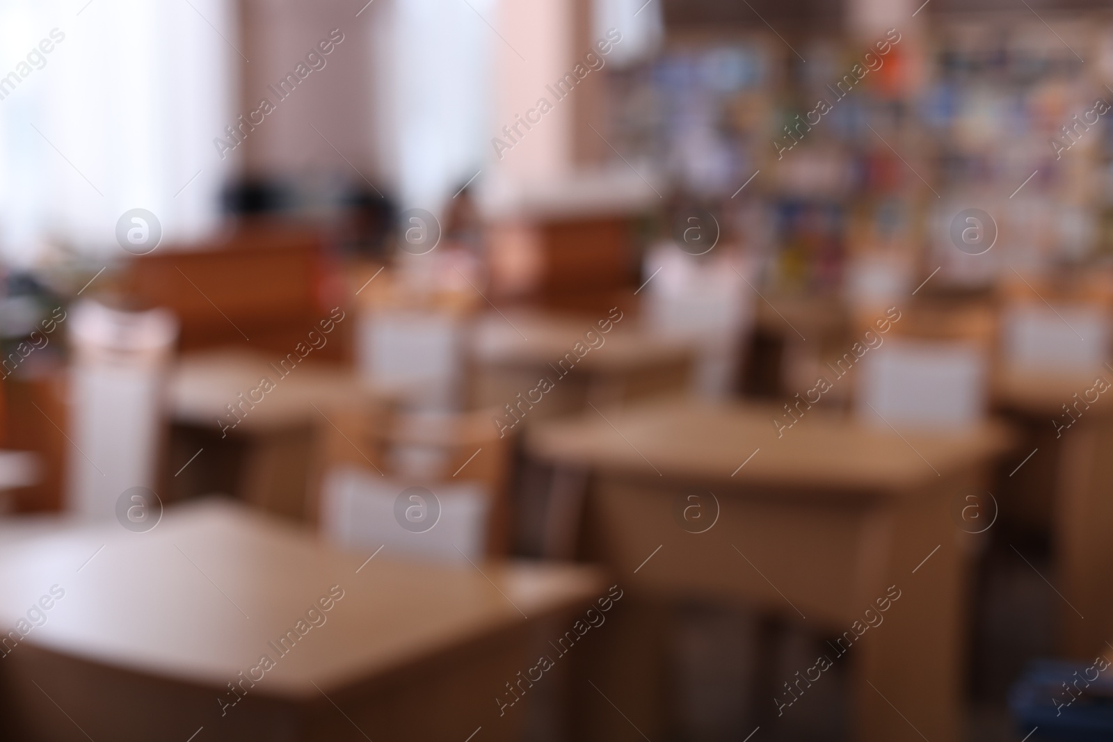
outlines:
[{"label": "whole nearest wooden desk at bottom left, glare on its top", "polygon": [[[605,592],[587,567],[481,574],[385,551],[365,563],[219,502],[141,534],[115,522],[28,530],[2,538],[0,625],[52,585],[65,596],[0,661],[4,726],[21,740],[184,741],[204,726],[198,740],[462,742],[481,725],[483,739],[514,739],[523,714],[499,718],[493,699],[535,664],[530,632]],[[334,585],[343,597],[325,623],[277,656],[268,642]],[[221,716],[226,684],[263,654],[275,666]]]}]

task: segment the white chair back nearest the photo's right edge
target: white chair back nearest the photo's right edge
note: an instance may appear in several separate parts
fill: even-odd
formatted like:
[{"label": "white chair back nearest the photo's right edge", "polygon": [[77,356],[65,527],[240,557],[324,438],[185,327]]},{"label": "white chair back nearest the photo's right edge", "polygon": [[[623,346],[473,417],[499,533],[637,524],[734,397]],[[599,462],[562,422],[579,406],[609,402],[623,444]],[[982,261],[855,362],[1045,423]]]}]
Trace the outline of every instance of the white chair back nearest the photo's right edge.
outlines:
[{"label": "white chair back nearest the photo's right edge", "polygon": [[1005,363],[1013,370],[1091,373],[1109,358],[1110,321],[1096,307],[1012,306],[1002,330]]}]

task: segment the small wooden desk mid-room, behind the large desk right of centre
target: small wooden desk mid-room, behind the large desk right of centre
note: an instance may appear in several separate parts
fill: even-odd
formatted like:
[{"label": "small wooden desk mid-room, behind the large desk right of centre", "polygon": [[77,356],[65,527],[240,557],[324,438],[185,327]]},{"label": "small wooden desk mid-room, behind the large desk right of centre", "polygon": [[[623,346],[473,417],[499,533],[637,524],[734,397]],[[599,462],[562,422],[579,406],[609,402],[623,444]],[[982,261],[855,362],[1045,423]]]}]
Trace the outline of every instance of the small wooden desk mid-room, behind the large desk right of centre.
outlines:
[{"label": "small wooden desk mid-room, behind the large desk right of centre", "polygon": [[[595,405],[614,404],[687,388],[693,360],[691,346],[637,329],[630,314],[602,334],[595,323],[607,318],[605,311],[598,317],[584,315],[582,320],[539,313],[480,318],[469,353],[474,378],[472,405],[504,409],[506,404],[518,404],[519,393],[525,398],[540,378],[549,378],[554,388],[544,393],[523,417],[532,423],[588,409],[589,400]],[[594,330],[592,337],[603,338],[603,344],[589,350],[561,377],[559,372],[567,372],[567,365],[561,369],[559,362],[565,354],[575,356],[577,343],[588,347],[588,330]],[[506,419],[513,418],[506,414]]]}]

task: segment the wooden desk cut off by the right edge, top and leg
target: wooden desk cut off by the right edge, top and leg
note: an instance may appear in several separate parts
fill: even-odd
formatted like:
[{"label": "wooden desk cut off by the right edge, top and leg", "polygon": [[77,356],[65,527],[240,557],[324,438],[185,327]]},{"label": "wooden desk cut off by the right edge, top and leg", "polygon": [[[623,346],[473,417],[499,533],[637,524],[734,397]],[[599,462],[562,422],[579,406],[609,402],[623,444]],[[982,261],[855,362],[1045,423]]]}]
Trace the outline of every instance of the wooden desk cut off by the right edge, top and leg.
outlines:
[{"label": "wooden desk cut off by the right edge, top and leg", "polygon": [[[1055,598],[1058,649],[1077,660],[1092,659],[1104,647],[1113,625],[1109,588],[1113,574],[1113,389],[1100,394],[1089,408],[1080,404],[1081,415],[1072,408],[1077,421],[1068,428],[1056,432],[1053,421],[1070,422],[1063,405],[1073,405],[1075,394],[1083,398],[1099,376],[1113,380],[1109,369],[1100,368],[1091,375],[1001,374],[994,385],[997,406],[1018,413],[1031,432],[1031,445],[1018,451],[1017,457],[1038,448],[1015,474],[1016,494],[1027,504],[1030,521],[1051,527],[1053,582],[1070,601]],[[1030,482],[1034,486],[1024,486]]]}]

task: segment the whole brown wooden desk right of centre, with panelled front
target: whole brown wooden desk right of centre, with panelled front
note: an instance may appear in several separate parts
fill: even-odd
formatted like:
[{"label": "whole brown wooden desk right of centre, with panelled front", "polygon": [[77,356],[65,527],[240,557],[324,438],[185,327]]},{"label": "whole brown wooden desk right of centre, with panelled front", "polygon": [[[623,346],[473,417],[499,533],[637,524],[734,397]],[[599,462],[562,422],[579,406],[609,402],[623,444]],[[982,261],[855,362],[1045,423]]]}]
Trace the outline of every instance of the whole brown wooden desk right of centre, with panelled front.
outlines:
[{"label": "whole brown wooden desk right of centre, with panelled front", "polygon": [[[958,739],[966,534],[949,509],[959,487],[982,483],[1009,436],[987,423],[947,435],[905,432],[906,442],[812,409],[778,439],[775,414],[666,400],[545,423],[526,446],[594,473],[589,550],[633,596],[743,600],[838,635],[896,585],[902,597],[884,623],[847,652],[855,739],[922,740],[908,721],[929,740]],[[718,521],[700,534],[673,516],[692,492],[719,503]],[[637,679],[612,683],[627,692],[611,698],[656,739],[650,730],[661,722],[639,703],[652,696],[640,677],[640,687]],[[776,679],[774,692],[795,680]],[[771,699],[760,703],[775,710]],[[628,732],[607,730],[611,739]]]}]

